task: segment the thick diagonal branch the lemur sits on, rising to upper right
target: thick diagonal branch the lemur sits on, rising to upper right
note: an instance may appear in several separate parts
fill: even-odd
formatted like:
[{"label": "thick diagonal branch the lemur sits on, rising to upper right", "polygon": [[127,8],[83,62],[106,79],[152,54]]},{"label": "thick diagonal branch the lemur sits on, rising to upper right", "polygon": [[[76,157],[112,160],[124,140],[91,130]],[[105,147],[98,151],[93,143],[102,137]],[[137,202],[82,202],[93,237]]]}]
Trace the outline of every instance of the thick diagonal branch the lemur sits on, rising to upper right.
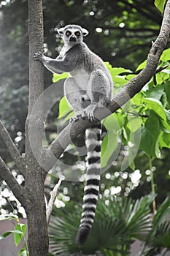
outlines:
[{"label": "thick diagonal branch the lemur sits on, rising to upper right", "polygon": [[[115,94],[112,102],[107,105],[107,108],[103,110],[96,109],[94,116],[101,120],[106,118],[111,113],[114,113],[118,108],[123,106],[125,102],[134,97],[139,91],[142,90],[144,85],[150,81],[158,66],[159,59],[163,53],[164,48],[169,39],[170,33],[170,0],[166,3],[166,8],[163,15],[163,22],[155,42],[152,44],[150,53],[147,57],[146,67],[138,74],[135,78],[132,78],[123,88]],[[73,124],[69,124],[63,131],[58,135],[49,148],[44,151],[43,167],[45,170],[50,170],[53,164],[61,156],[66,146],[72,142],[72,139],[76,138],[77,135],[82,133],[87,127],[95,126],[97,121],[90,122],[88,120],[80,119]]]}]

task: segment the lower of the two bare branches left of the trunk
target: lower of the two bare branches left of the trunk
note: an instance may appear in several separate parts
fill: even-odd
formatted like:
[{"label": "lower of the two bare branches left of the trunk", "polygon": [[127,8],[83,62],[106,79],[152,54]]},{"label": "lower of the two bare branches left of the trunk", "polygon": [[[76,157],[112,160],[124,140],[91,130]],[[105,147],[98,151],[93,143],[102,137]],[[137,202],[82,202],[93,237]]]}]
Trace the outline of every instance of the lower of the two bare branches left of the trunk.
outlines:
[{"label": "lower of the two bare branches left of the trunk", "polygon": [[15,197],[20,201],[22,205],[26,203],[25,190],[16,181],[15,177],[10,172],[9,168],[0,157],[0,176],[7,183]]}]

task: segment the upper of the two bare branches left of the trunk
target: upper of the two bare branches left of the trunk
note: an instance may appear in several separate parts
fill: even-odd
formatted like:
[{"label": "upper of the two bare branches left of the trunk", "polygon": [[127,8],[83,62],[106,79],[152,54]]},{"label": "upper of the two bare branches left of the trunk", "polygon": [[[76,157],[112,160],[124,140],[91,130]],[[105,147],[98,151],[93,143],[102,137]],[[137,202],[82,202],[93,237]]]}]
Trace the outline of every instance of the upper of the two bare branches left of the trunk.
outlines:
[{"label": "upper of the two bare branches left of the trunk", "polygon": [[4,127],[4,124],[0,121],[0,134],[1,138],[4,140],[4,143],[7,145],[7,149],[9,151],[9,154],[11,154],[12,159],[14,160],[16,166],[18,167],[18,170],[20,171],[20,174],[24,176],[24,164],[23,164],[23,157],[20,156],[20,153],[18,149],[15,146],[15,143],[13,143],[11,136],[9,135],[9,132]]}]

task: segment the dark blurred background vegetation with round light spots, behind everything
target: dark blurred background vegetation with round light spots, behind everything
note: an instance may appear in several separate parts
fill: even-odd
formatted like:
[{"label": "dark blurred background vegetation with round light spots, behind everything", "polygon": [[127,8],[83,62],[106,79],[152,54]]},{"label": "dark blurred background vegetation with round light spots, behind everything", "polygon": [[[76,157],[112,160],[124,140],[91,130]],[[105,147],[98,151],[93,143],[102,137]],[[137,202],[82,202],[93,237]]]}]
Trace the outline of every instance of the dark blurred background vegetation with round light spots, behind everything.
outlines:
[{"label": "dark blurred background vegetation with round light spots, behind everything", "polygon": [[[158,36],[162,20],[161,12],[158,11],[152,0],[44,0],[43,6],[44,46],[47,56],[55,58],[61,50],[62,41],[58,37],[57,28],[75,23],[90,31],[88,37],[85,38],[89,48],[101,56],[104,61],[109,61],[112,67],[123,67],[125,75],[128,74],[127,69],[131,69],[131,74],[135,75],[136,67],[147,59],[147,53],[152,41]],[[28,7],[26,0],[0,1],[0,31],[0,118],[12,139],[15,140],[20,152],[23,153],[28,108]],[[52,79],[53,75],[45,69],[45,88],[51,85]],[[161,80],[160,83],[163,84],[164,81]],[[168,83],[169,77],[166,78],[166,86]],[[53,97],[59,100],[63,97],[62,83],[56,91],[57,93]],[[157,93],[159,94],[160,91]],[[57,119],[58,106],[57,102],[50,110],[45,124],[48,143],[57,136],[57,127],[62,129],[66,126],[66,122],[63,122],[62,118],[60,121]],[[169,94],[166,95],[165,108],[169,109]],[[106,133],[107,131],[104,130],[104,134]],[[83,146],[83,136],[77,138],[74,143]],[[18,178],[18,182],[24,182],[23,178],[18,175],[1,138],[0,145],[1,157],[8,162],[12,173]],[[102,175],[101,194],[106,197],[116,197],[117,200],[125,200],[128,197],[135,202],[140,197],[153,192],[154,186],[157,194],[156,207],[158,208],[169,196],[168,143],[166,148],[161,147],[160,157],[152,158],[152,163],[150,156],[145,151],[139,150],[134,165],[125,170],[120,170],[123,159],[127,156],[127,148],[123,141],[120,147],[117,159]],[[69,148],[69,151],[61,156],[61,162],[69,165],[68,171],[72,172],[83,169],[85,166],[85,157],[72,155],[74,151],[74,148]],[[53,170],[53,173],[47,176],[47,197],[50,189],[58,181],[58,170],[60,170],[60,164],[56,167],[55,172]],[[152,186],[151,181],[154,182]],[[56,206],[62,208],[69,202],[81,205],[83,187],[84,184],[78,181],[63,181]],[[4,182],[1,183],[0,191],[1,214],[14,211],[15,214],[25,217],[23,208],[9,192]],[[70,209],[72,209],[72,204]],[[152,211],[152,208],[150,210]]]}]

